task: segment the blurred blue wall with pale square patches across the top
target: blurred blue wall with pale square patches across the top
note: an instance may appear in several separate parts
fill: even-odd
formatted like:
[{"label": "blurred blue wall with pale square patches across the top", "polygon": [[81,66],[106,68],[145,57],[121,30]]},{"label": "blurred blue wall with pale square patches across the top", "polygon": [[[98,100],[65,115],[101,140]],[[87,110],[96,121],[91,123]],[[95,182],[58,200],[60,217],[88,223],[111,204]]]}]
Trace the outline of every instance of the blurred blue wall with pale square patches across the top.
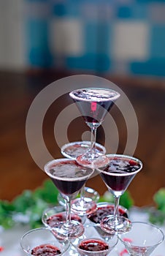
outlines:
[{"label": "blurred blue wall with pale square patches across the top", "polygon": [[164,77],[164,0],[1,1],[1,69]]}]

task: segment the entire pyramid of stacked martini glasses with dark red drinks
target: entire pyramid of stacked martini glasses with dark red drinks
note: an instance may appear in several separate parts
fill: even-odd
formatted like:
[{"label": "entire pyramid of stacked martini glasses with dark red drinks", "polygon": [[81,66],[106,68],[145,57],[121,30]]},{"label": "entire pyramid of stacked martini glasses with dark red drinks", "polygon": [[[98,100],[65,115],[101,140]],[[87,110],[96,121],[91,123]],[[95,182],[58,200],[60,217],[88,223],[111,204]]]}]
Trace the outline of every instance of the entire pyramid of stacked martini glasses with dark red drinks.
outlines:
[{"label": "entire pyramid of stacked martini glasses with dark red drinks", "polygon": [[[119,205],[120,196],[142,170],[142,162],[124,154],[106,154],[104,146],[96,143],[96,130],[120,94],[107,88],[85,88],[69,96],[91,129],[91,141],[65,144],[61,154],[66,158],[47,162],[44,170],[59,191],[61,206],[45,209],[45,227],[29,230],[20,245],[27,255],[107,256],[113,250],[115,256],[119,238],[129,255],[149,256],[164,240],[164,233],[149,223],[131,222],[127,209]],[[85,187],[96,174],[114,196],[114,204],[97,203],[99,193]]]}]

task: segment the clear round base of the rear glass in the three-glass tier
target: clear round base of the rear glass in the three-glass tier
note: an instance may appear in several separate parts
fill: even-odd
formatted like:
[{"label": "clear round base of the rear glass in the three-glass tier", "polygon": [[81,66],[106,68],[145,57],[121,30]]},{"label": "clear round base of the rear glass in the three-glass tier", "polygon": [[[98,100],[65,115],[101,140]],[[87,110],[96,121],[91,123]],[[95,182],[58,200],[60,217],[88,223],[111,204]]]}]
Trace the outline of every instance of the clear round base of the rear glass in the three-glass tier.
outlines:
[{"label": "clear round base of the rear glass in the three-glass tier", "polygon": [[96,202],[94,202],[91,198],[84,197],[76,198],[72,201],[71,208],[75,214],[80,216],[92,214],[93,211],[96,211]]}]

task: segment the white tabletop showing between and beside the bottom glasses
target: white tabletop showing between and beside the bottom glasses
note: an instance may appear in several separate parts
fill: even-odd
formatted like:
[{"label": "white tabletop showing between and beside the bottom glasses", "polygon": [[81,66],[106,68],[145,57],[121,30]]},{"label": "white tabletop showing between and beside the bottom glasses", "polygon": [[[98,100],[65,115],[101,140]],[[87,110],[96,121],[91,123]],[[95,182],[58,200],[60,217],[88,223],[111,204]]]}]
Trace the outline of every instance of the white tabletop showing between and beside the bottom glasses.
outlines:
[{"label": "white tabletop showing between and beside the bottom glasses", "polygon": [[[148,222],[147,212],[142,208],[133,207],[129,213],[131,221],[142,221]],[[0,233],[0,246],[3,250],[0,252],[0,256],[25,256],[25,253],[20,248],[20,238],[26,231],[29,230],[28,225],[16,225],[10,230],[1,231]],[[161,230],[165,233],[165,226],[161,226]],[[151,256],[164,256],[165,252],[165,241],[160,244]],[[78,256],[77,252],[73,247],[70,247],[69,252],[66,252],[64,256]],[[109,254],[110,256],[128,256],[126,249],[123,245],[118,242],[115,249]]]}]

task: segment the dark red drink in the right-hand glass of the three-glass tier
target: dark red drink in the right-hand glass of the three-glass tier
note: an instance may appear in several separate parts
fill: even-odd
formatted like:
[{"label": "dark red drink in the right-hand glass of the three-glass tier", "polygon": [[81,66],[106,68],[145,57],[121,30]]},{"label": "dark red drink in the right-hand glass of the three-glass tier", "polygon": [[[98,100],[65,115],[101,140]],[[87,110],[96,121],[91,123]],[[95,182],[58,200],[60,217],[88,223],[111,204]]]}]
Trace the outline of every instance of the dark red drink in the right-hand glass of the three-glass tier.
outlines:
[{"label": "dark red drink in the right-hand glass of the three-glass tier", "polygon": [[[109,165],[101,170],[107,173],[116,173],[117,175],[110,175],[106,173],[100,173],[101,178],[104,180],[105,184],[109,189],[114,191],[123,191],[128,187],[131,180],[134,178],[135,171],[139,170],[141,165],[134,159],[128,159],[124,157],[113,157],[110,159]],[[123,174],[126,173],[126,176]],[[132,175],[127,175],[128,173],[134,173]]]}]

